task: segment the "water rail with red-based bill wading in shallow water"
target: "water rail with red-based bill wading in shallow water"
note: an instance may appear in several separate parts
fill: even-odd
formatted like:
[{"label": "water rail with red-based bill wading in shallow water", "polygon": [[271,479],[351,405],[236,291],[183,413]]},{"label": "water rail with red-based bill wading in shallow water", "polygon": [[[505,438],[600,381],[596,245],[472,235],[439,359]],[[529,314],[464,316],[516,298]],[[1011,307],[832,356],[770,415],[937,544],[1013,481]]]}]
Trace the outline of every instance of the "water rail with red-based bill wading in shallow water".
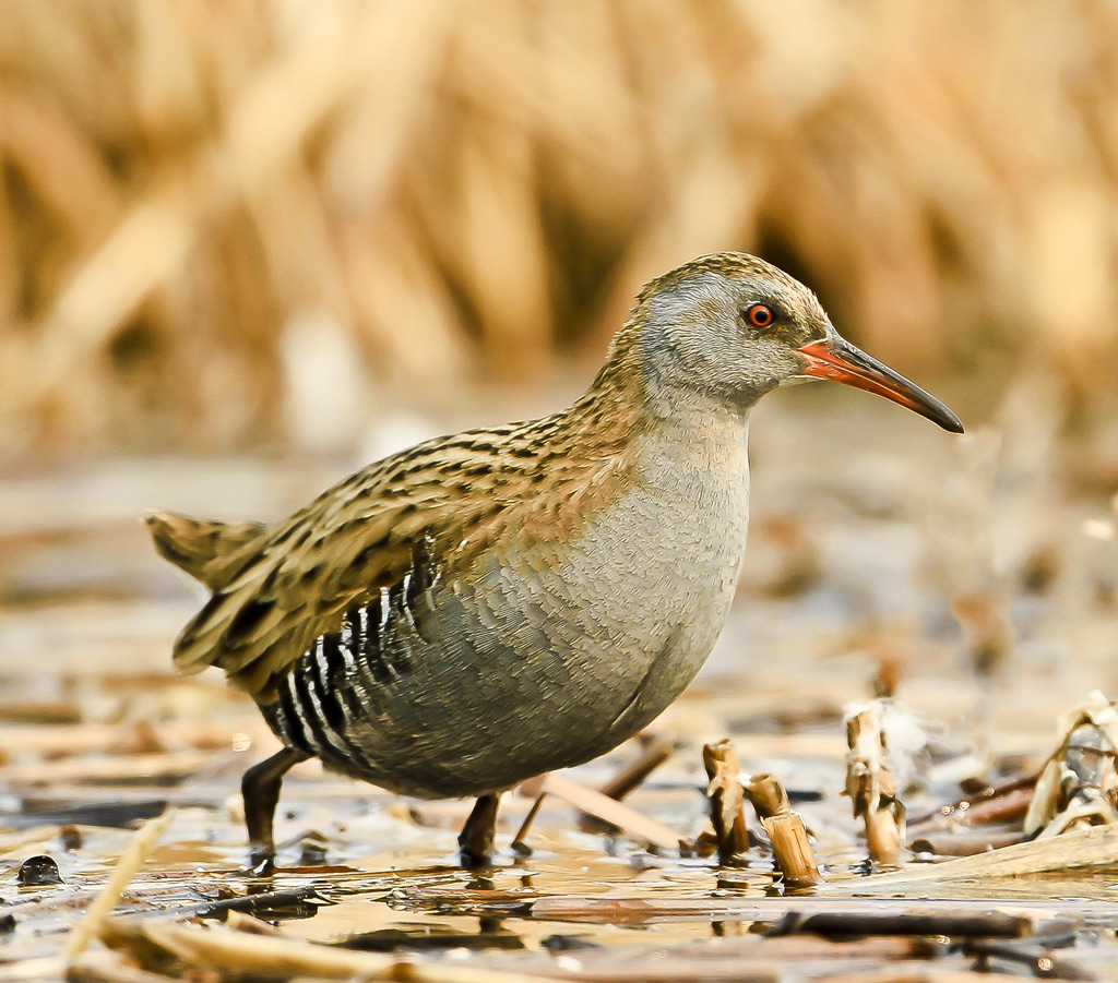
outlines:
[{"label": "water rail with red-based bill wading in shallow water", "polygon": [[652,722],[730,608],[749,411],[812,376],[963,430],[805,286],[721,252],[644,287],[561,412],[420,443],[272,525],[149,516],[160,553],[211,591],[174,664],[225,670],[283,743],[241,783],[252,866],[272,868],[283,775],[305,758],[476,796],[458,838],[476,866],[503,790]]}]

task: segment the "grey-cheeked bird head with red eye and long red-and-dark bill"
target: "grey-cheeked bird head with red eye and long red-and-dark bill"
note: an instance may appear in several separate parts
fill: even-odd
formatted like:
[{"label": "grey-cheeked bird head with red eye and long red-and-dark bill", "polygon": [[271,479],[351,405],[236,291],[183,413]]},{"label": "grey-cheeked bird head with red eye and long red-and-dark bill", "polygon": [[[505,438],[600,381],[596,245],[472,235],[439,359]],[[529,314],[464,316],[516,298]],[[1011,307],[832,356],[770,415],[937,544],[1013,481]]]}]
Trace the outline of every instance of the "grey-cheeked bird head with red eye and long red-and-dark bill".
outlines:
[{"label": "grey-cheeked bird head with red eye and long red-and-dark bill", "polygon": [[664,274],[642,290],[633,324],[650,385],[669,400],[746,409],[778,385],[833,379],[963,432],[939,400],[843,338],[807,287],[755,256],[719,252]]}]

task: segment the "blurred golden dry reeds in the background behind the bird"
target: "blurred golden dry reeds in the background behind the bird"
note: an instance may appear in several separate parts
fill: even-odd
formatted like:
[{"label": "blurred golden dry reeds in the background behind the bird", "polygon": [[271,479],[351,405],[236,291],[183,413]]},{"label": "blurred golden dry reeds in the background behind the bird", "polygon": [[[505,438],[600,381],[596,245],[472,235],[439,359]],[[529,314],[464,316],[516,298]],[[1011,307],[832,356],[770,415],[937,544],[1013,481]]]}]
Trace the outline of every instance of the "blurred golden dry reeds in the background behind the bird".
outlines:
[{"label": "blurred golden dry reeds in the background behind the bird", "polygon": [[726,248],[1112,405],[1116,96],[1112,2],[4,0],[0,451],[321,449]]}]

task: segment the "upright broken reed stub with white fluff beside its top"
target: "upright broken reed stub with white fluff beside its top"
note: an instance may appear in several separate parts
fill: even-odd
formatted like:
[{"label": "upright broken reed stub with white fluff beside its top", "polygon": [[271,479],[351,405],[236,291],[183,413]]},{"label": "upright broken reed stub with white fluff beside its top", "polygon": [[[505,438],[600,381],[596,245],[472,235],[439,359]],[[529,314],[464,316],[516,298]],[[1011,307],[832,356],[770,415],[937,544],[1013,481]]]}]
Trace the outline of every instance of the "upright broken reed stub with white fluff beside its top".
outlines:
[{"label": "upright broken reed stub with white fluff beside its top", "polygon": [[870,859],[897,865],[904,840],[904,807],[897,799],[893,775],[885,763],[882,712],[882,700],[873,700],[852,706],[846,713],[846,794],[854,817],[865,824]]}]

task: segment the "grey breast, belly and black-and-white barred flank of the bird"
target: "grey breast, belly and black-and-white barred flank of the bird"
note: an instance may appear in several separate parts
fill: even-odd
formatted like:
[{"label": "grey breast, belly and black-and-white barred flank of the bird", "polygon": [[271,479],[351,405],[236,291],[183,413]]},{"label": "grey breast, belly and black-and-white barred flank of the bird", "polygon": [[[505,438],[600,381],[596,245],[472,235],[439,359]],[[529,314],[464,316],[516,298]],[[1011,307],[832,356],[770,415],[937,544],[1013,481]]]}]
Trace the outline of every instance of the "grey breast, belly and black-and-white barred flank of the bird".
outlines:
[{"label": "grey breast, belly and black-and-white barred flank of the bird", "polygon": [[574,540],[512,535],[468,576],[420,547],[399,584],[304,653],[265,709],[273,728],[432,798],[509,788],[637,733],[709,655],[745,546],[748,473],[673,475],[637,483]]}]

